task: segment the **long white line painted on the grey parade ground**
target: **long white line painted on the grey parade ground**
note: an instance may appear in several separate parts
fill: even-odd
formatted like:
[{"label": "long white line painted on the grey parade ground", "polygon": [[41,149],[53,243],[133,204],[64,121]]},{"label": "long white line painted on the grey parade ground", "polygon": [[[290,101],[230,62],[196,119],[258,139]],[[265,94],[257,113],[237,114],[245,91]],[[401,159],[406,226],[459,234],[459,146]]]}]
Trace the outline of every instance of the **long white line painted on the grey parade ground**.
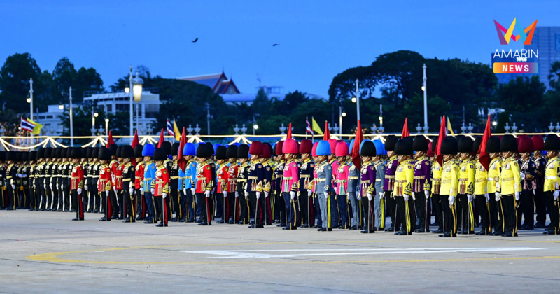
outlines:
[{"label": "long white line painted on the grey parade ground", "polygon": [[[413,253],[459,253],[459,252],[491,252],[491,251],[531,251],[542,248],[531,247],[491,247],[491,248],[363,248],[363,249],[279,249],[279,250],[202,250],[183,251],[221,255],[210,258],[293,258],[302,256],[333,256],[333,255],[381,255],[381,254],[413,254]],[[296,254],[263,254],[257,252],[298,252]],[[325,253],[302,253],[325,252]]]}]

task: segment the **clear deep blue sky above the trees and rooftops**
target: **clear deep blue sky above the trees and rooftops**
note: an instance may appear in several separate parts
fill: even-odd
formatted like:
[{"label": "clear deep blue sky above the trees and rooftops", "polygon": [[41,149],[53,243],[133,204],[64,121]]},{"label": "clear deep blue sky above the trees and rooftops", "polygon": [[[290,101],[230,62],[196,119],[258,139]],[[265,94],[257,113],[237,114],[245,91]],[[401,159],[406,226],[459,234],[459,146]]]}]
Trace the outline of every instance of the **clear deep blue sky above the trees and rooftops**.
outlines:
[{"label": "clear deep blue sky above the trees and rooftops", "polygon": [[395,50],[488,64],[499,45],[493,19],[560,25],[558,0],[2,0],[0,7],[2,64],[30,52],[52,71],[66,56],[97,69],[105,87],[130,65],[165,78],[224,69],[241,92],[255,92],[260,74],[263,85],[323,97],[337,73]]}]

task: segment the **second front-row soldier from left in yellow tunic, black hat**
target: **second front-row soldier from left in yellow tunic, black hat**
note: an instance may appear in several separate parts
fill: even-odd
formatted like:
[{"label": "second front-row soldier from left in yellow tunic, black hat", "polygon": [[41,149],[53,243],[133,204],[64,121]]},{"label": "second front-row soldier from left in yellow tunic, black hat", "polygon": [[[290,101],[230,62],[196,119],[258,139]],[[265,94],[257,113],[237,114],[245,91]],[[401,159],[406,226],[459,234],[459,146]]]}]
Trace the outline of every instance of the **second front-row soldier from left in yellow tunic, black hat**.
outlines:
[{"label": "second front-row soldier from left in yellow tunic, black hat", "polygon": [[443,139],[441,153],[443,155],[443,169],[440,201],[443,210],[444,228],[440,237],[457,237],[455,198],[458,192],[459,166],[454,159],[457,153],[457,140],[454,137]]}]

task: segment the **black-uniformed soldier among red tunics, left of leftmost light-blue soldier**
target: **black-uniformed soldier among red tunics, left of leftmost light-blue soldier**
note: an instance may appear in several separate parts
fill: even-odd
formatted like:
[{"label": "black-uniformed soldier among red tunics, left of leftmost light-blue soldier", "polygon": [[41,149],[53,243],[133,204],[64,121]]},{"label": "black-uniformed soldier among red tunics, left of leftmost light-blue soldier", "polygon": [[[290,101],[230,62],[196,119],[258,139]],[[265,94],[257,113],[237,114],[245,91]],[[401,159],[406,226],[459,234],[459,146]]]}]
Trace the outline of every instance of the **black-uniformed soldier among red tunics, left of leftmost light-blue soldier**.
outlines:
[{"label": "black-uniformed soldier among red tunics, left of leftmost light-blue soldier", "polygon": [[123,214],[125,214],[123,223],[134,223],[137,211],[137,199],[134,197],[136,171],[132,164],[134,148],[130,145],[123,146],[120,150],[120,157],[123,159]]}]

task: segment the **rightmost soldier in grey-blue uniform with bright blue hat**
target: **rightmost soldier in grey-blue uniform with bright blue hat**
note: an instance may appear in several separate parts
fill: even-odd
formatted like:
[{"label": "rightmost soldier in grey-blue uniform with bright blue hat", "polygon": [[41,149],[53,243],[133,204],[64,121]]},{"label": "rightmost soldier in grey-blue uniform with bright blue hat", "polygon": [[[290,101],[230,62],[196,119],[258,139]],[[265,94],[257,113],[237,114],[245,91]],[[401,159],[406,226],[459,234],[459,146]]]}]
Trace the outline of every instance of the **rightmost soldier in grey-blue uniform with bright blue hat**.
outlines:
[{"label": "rightmost soldier in grey-blue uniform with bright blue hat", "polygon": [[385,193],[383,191],[383,184],[385,179],[385,169],[386,165],[383,161],[383,156],[386,154],[385,147],[381,140],[374,140],[376,155],[372,159],[373,165],[375,167],[375,192],[377,197],[373,197],[373,207],[375,213],[375,225],[377,225],[376,230],[385,230]]}]

